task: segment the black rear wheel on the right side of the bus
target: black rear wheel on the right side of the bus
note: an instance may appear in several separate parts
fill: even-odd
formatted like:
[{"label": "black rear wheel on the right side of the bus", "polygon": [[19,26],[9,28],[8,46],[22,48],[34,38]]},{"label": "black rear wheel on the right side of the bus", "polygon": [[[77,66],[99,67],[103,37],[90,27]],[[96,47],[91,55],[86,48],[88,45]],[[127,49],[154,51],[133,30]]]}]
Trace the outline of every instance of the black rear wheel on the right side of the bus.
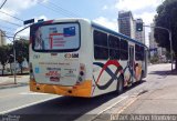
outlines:
[{"label": "black rear wheel on the right side of the bus", "polygon": [[124,79],[123,75],[119,75],[118,80],[117,80],[117,89],[116,89],[116,93],[121,94],[124,91]]}]

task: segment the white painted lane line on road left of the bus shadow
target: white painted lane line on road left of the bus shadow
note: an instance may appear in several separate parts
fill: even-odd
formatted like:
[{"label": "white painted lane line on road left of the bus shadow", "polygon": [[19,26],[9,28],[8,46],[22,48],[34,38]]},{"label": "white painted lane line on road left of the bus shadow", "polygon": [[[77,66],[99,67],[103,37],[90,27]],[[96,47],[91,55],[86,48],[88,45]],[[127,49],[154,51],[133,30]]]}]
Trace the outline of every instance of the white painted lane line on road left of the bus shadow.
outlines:
[{"label": "white painted lane line on road left of the bus shadow", "polygon": [[38,103],[41,103],[41,102],[45,102],[45,101],[49,101],[49,100],[52,100],[52,99],[55,99],[55,98],[59,98],[59,97],[62,97],[62,95],[55,95],[55,97],[52,97],[52,98],[49,98],[49,99],[44,99],[44,100],[40,100],[40,101],[33,102],[33,103],[24,104],[24,105],[21,105],[21,107],[18,107],[18,108],[9,109],[7,111],[0,112],[0,114],[6,114],[6,113],[9,113],[9,112],[19,110],[19,109],[28,108],[28,107],[31,107],[31,105],[34,105],[34,104],[38,104]]}]

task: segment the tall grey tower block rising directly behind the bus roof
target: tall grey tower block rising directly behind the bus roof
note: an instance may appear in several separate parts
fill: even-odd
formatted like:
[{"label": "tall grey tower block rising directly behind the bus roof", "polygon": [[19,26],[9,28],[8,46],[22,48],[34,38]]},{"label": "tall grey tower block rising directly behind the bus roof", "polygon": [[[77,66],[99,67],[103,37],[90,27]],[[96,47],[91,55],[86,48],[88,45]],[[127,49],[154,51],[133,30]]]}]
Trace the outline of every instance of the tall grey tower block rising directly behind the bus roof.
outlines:
[{"label": "tall grey tower block rising directly behind the bus roof", "polygon": [[118,30],[121,33],[135,39],[134,18],[131,11],[118,12]]}]

